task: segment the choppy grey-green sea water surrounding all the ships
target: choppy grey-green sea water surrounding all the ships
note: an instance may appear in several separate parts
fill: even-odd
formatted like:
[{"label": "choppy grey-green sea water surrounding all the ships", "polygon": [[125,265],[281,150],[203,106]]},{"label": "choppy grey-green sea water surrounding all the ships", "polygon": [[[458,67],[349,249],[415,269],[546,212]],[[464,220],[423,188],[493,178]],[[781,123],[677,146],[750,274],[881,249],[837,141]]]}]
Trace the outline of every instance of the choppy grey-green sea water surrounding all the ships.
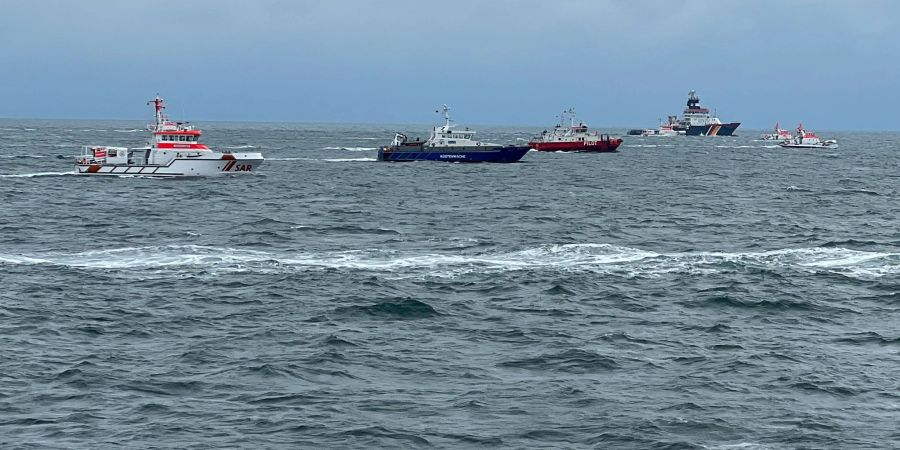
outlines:
[{"label": "choppy grey-green sea water surrounding all the ships", "polygon": [[142,126],[0,121],[0,446],[900,442],[898,134],[382,164],[397,126],[207,124],[266,165],[67,174]]}]

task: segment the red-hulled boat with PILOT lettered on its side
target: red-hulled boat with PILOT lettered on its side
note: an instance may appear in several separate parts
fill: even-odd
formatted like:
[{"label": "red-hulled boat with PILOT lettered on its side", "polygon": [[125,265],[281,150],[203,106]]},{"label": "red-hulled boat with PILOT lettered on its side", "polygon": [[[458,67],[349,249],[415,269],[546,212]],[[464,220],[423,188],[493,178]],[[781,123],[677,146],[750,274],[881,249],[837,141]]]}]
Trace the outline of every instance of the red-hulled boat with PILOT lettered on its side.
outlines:
[{"label": "red-hulled boat with PILOT lettered on its side", "polygon": [[[563,125],[567,120],[569,125]],[[576,125],[575,108],[563,111],[559,124],[552,131],[544,130],[528,142],[529,147],[541,152],[614,152],[621,144],[620,138],[588,132],[584,122]]]}]

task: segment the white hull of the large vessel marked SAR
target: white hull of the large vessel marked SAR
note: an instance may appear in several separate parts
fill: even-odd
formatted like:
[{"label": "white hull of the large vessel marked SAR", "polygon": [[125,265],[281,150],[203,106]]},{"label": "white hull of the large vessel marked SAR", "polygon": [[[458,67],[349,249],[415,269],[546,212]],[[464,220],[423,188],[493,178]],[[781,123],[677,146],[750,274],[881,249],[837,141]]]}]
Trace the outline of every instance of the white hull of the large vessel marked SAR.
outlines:
[{"label": "white hull of the large vessel marked SAR", "polygon": [[75,171],[95,176],[216,177],[252,173],[264,161],[260,153],[226,153],[219,158],[175,158],[168,164],[76,163]]}]

